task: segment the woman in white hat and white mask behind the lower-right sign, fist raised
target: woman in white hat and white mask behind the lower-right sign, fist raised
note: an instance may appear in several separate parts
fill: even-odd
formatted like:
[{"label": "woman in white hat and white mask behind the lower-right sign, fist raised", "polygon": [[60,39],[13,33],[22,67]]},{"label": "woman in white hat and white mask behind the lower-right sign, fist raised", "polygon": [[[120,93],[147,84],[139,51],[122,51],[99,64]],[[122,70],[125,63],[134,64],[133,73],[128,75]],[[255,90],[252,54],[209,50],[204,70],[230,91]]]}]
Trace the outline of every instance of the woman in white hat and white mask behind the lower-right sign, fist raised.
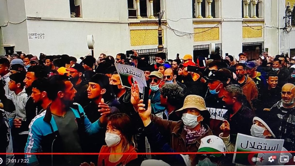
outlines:
[{"label": "woman in white hat and white mask behind the lower-right sign, fist raised", "polygon": [[[253,118],[253,125],[250,129],[251,136],[266,139],[277,139],[276,136],[278,136],[279,133],[277,131],[277,126],[279,126],[279,124],[276,121],[272,121],[271,117],[267,117],[267,115],[265,116],[263,117],[263,119],[256,116]],[[271,130],[271,128],[273,130]],[[219,134],[219,137],[223,140],[226,151],[234,152],[235,144],[230,141],[230,124],[227,121],[224,121],[224,123],[222,123],[222,125],[220,126],[220,129],[223,132]],[[286,152],[287,150],[283,147],[282,151]],[[290,153],[281,153],[280,155],[288,155],[289,158],[292,158],[292,155]],[[278,164],[284,165],[285,163],[278,162]]]}]

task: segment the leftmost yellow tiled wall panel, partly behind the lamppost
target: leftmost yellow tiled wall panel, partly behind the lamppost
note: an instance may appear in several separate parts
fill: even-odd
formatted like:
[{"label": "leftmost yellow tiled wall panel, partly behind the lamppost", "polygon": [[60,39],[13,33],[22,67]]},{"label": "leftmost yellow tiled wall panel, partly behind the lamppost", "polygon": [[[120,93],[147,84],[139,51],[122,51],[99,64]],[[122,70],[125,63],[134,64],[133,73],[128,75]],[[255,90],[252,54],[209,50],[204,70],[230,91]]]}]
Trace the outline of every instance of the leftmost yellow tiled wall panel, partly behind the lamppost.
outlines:
[{"label": "leftmost yellow tiled wall panel, partly behind the lamppost", "polygon": [[[164,44],[164,31],[162,30]],[[130,30],[130,45],[158,45],[158,29]]]}]

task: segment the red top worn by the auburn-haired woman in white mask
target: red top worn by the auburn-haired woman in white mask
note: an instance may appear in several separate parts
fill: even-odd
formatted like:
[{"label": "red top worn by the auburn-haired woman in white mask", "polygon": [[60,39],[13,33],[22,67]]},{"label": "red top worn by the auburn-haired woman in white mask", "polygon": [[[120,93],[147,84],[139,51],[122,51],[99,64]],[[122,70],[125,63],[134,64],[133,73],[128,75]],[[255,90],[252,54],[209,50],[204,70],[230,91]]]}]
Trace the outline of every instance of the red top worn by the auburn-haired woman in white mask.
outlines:
[{"label": "red top worn by the auburn-haired woman in white mask", "polygon": [[[100,153],[111,153],[111,147],[107,147],[106,145],[102,146],[100,149]],[[121,159],[117,162],[110,162],[109,161],[109,154],[106,155],[99,155],[97,166],[124,166],[128,162],[137,159],[137,152],[133,146],[130,146],[126,153],[134,153],[134,154],[123,154]]]}]

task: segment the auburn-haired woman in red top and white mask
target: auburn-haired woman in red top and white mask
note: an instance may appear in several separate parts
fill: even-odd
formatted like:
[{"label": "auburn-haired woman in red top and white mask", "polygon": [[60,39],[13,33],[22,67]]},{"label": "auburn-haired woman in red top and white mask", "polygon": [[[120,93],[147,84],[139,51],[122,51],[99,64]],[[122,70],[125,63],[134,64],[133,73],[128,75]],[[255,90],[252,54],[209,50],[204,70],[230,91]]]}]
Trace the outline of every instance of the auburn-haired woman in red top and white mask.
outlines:
[{"label": "auburn-haired woman in red top and white mask", "polygon": [[[107,119],[106,126],[106,145],[102,146],[100,153],[115,153],[101,154],[98,157],[98,166],[116,166],[126,165],[128,162],[137,158],[136,144],[134,141],[134,126],[127,114],[116,113],[112,114]],[[129,153],[129,154],[118,154]],[[130,154],[132,153],[132,154]],[[134,154],[133,154],[134,153]],[[94,166],[86,162],[80,166]]]}]

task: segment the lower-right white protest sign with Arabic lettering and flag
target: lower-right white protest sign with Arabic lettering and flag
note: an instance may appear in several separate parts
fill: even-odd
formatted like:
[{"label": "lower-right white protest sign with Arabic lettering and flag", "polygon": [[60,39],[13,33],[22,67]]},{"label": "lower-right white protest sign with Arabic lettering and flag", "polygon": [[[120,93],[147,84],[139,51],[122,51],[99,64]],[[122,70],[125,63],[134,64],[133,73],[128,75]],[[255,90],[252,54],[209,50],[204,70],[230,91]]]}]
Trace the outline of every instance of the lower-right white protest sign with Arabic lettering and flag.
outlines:
[{"label": "lower-right white protest sign with Arabic lettering and flag", "polygon": [[[280,153],[263,153],[278,152],[283,148],[283,139],[264,139],[245,134],[237,134],[235,152],[260,152],[260,153],[238,153],[234,154],[233,163],[242,165],[278,165]],[[268,157],[276,156],[273,162],[268,161]],[[258,160],[253,160],[255,157]]]}]

